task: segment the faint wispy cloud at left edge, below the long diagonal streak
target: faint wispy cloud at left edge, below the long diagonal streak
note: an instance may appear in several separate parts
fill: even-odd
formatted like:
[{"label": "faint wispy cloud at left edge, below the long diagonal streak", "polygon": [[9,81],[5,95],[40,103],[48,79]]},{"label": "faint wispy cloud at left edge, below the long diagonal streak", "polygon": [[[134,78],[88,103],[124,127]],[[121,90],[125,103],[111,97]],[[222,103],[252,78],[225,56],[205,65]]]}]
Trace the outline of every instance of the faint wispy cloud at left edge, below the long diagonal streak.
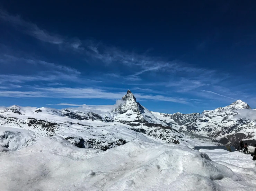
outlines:
[{"label": "faint wispy cloud at left edge, below the long diagonal streak", "polygon": [[11,85],[9,83],[26,83],[39,81],[52,82],[48,83],[48,86],[63,86],[64,84],[58,82],[60,80],[77,82],[81,84],[101,82],[97,80],[83,78],[80,75],[80,71],[74,68],[46,62],[43,60],[38,60],[35,58],[24,58],[12,56],[9,54],[0,54],[0,63],[11,63],[15,67],[23,66],[29,68],[29,71],[32,71],[32,74],[0,74],[0,84],[5,84],[6,86],[4,87],[6,88],[18,88],[19,86],[18,84],[16,84],[15,87],[14,85]]}]

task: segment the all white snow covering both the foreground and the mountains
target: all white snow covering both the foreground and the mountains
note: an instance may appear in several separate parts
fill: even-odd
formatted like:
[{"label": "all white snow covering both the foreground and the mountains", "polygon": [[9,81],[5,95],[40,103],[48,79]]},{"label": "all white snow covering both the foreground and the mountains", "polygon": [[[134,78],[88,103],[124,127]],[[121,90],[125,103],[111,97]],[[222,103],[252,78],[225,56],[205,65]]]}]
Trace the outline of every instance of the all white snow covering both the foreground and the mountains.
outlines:
[{"label": "all white snow covering both the foreground and the mountains", "polygon": [[[247,115],[249,109],[238,100],[199,117],[198,113],[151,112],[136,102],[131,91],[106,107],[2,108],[0,188],[256,190],[255,161],[250,155],[192,150],[218,144],[209,139],[213,133],[234,125],[234,130],[256,136],[255,121],[233,118],[242,112]],[[208,138],[178,131],[187,127]]]}]

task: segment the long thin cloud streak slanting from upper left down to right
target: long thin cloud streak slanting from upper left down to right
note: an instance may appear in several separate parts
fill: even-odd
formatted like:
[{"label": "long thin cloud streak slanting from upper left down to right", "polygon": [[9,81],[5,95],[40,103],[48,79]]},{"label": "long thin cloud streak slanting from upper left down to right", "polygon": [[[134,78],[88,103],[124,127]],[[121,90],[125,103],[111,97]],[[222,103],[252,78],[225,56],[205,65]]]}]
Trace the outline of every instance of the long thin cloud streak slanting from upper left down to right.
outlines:
[{"label": "long thin cloud streak slanting from upper left down to right", "polygon": [[[75,51],[79,49],[79,52],[84,57],[97,59],[106,64],[122,64],[126,69],[126,73],[129,73],[129,69],[132,69],[130,70],[130,74],[123,76],[123,79],[127,81],[141,80],[139,77],[141,74],[149,71],[160,73],[161,69],[164,71],[164,73],[174,74],[177,72],[186,72],[188,74],[194,73],[194,76],[202,73],[209,76],[210,73],[215,72],[213,70],[189,66],[188,64],[178,60],[168,61],[168,59],[147,56],[146,54],[123,51],[120,48],[107,46],[103,43],[95,42],[94,40],[82,41],[77,38],[74,39],[62,37],[58,34],[52,34],[44,29],[40,29],[36,24],[25,21],[20,16],[11,15],[7,11],[1,9],[0,18],[3,21],[10,23],[12,26],[19,28],[30,36],[35,37],[36,39],[49,42],[51,44],[59,44],[59,46],[62,46],[62,49],[65,49],[64,47],[71,47]],[[29,60],[27,60],[27,62],[29,62]],[[30,60],[30,62],[33,61]],[[134,68],[136,68],[136,70],[134,70]],[[68,68],[65,69],[68,70]]]}]

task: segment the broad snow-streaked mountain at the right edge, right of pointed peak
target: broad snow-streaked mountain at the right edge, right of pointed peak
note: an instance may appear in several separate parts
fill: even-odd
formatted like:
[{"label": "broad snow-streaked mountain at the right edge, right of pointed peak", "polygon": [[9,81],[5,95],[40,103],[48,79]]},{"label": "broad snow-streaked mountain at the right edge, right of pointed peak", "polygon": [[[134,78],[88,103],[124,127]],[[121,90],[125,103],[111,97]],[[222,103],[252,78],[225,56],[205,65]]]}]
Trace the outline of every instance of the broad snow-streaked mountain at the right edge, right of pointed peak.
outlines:
[{"label": "broad snow-streaked mountain at the right edge, right of pointed peak", "polygon": [[256,138],[256,121],[240,116],[240,113],[251,110],[247,103],[237,100],[223,108],[203,111],[195,121],[181,129],[213,137],[225,145],[233,145],[240,140],[252,143]]}]

